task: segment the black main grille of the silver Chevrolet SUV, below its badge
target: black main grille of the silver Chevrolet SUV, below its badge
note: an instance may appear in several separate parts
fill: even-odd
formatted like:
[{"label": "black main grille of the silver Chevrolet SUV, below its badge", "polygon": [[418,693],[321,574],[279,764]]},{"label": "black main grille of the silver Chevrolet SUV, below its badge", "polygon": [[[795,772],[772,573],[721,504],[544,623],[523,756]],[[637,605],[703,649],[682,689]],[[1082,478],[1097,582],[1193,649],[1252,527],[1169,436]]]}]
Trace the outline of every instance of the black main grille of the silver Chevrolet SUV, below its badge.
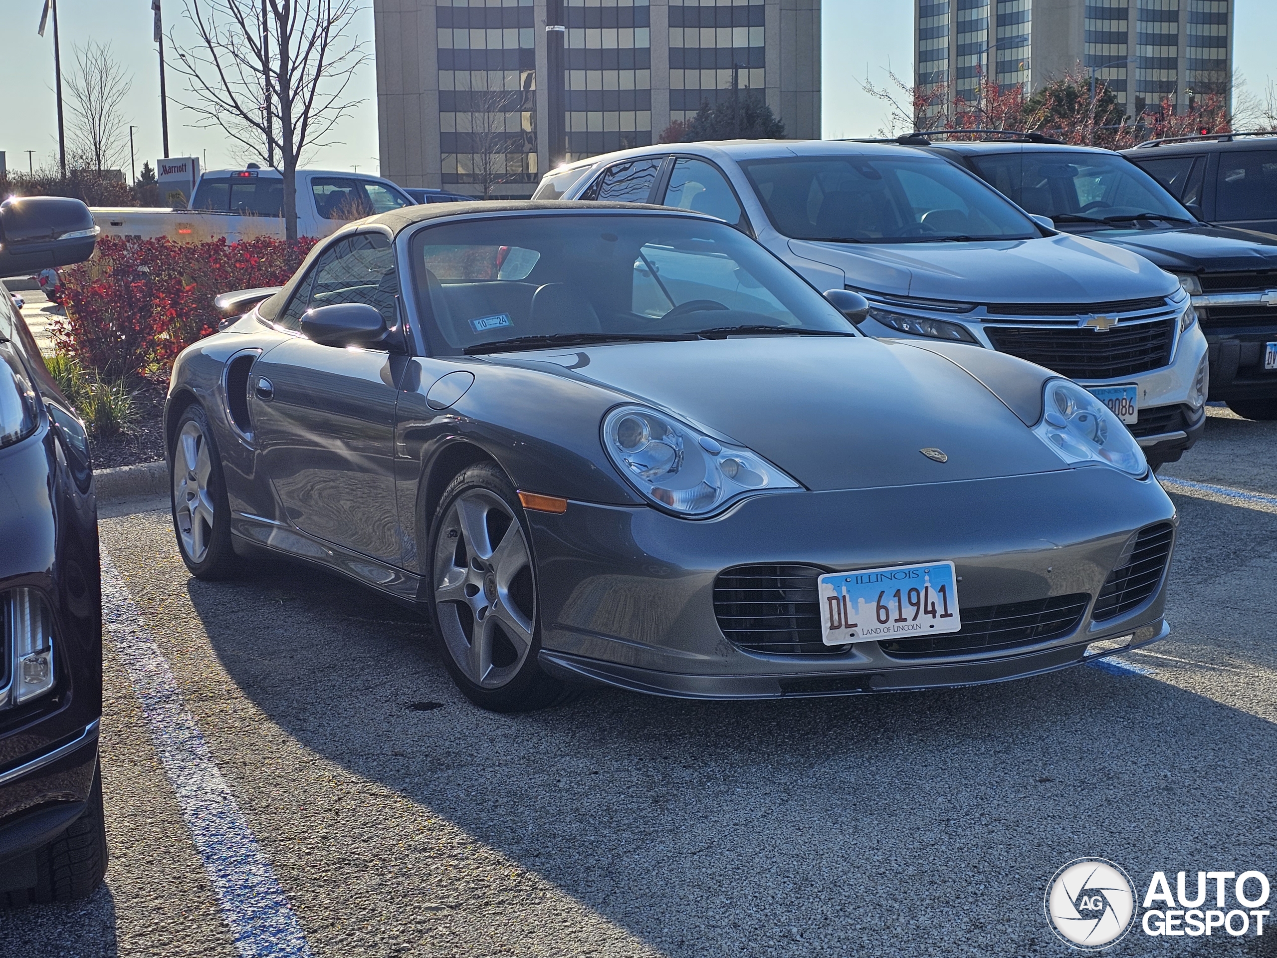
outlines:
[{"label": "black main grille of the silver Chevrolet SUV, below its badge", "polygon": [[986,327],[1000,353],[1027,359],[1070,379],[1116,379],[1160,369],[1171,361],[1175,319],[1088,328]]}]

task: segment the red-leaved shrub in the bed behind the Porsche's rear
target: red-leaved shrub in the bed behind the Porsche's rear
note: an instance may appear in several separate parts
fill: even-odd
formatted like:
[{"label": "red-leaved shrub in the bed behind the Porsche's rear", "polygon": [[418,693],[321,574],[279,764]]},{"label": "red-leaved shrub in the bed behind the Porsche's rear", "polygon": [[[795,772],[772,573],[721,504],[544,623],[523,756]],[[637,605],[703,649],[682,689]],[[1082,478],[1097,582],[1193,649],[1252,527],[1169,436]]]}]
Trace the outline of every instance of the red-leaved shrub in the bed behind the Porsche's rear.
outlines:
[{"label": "red-leaved shrub in the bed behind the Porsche's rear", "polygon": [[63,271],[65,317],[50,323],[57,351],[103,379],[167,367],[217,330],[213,298],[285,284],[315,240],[258,238],[172,243],[103,236],[93,258]]}]

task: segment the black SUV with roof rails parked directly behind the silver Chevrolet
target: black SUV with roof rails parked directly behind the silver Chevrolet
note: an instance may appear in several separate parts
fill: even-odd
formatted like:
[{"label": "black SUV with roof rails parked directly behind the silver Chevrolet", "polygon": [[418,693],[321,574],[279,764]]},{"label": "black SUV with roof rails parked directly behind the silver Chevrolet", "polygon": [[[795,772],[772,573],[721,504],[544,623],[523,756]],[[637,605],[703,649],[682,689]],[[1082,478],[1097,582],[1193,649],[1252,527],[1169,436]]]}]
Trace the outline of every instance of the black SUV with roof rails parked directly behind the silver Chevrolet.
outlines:
[{"label": "black SUV with roof rails parked directly behind the silver Chevrolet", "polygon": [[1211,346],[1211,399],[1277,419],[1277,236],[1200,222],[1121,153],[1043,139],[902,142],[949,157],[1059,230],[1179,276]]}]

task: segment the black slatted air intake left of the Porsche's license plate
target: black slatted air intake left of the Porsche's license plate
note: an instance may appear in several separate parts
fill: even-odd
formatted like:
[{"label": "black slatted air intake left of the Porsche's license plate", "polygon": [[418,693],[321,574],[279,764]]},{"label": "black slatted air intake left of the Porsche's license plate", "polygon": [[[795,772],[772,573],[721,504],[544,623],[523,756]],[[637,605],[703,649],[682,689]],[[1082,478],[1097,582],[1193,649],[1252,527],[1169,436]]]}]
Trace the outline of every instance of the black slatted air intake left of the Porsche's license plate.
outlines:
[{"label": "black slatted air intake left of the Porsche's license plate", "polygon": [[730,641],[750,651],[780,655],[836,655],[845,645],[825,645],[820,634],[820,593],[815,566],[737,566],[714,581],[714,614]]}]

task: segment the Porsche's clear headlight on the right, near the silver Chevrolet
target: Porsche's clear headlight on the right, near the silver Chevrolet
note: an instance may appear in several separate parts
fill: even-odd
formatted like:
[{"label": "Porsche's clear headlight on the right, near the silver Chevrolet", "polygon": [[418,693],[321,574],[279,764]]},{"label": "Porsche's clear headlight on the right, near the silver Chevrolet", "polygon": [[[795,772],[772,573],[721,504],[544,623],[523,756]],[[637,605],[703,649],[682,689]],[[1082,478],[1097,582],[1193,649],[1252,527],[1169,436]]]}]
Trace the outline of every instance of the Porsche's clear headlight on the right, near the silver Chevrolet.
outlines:
[{"label": "Porsche's clear headlight on the right, near the silver Chevrolet", "polygon": [[1051,379],[1045,406],[1034,432],[1065,462],[1105,462],[1134,476],[1148,471],[1135,437],[1108,406],[1077,383]]}]

